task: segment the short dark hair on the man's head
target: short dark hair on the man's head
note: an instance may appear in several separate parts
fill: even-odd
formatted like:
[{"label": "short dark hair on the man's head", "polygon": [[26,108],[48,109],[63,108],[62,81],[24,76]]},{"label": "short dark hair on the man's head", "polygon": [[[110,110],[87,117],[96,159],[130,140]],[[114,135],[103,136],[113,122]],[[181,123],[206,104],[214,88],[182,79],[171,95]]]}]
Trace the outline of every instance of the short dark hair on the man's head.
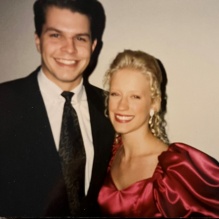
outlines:
[{"label": "short dark hair on the man's head", "polygon": [[101,40],[106,18],[104,9],[97,0],[36,0],[33,5],[34,23],[35,32],[39,37],[45,23],[46,11],[51,6],[86,15],[90,20],[92,41]]}]

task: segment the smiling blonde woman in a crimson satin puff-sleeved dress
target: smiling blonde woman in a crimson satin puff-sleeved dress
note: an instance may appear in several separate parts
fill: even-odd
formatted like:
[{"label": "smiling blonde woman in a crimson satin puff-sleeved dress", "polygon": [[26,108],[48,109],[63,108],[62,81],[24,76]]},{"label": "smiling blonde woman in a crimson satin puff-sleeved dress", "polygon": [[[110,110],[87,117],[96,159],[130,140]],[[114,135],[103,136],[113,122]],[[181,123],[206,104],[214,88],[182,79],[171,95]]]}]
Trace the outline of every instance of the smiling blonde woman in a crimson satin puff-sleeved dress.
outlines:
[{"label": "smiling blonde woman in a crimson satin puff-sleeved dress", "polygon": [[98,196],[103,215],[219,217],[219,163],[184,143],[169,144],[157,60],[125,50],[110,65],[105,83],[118,135]]}]

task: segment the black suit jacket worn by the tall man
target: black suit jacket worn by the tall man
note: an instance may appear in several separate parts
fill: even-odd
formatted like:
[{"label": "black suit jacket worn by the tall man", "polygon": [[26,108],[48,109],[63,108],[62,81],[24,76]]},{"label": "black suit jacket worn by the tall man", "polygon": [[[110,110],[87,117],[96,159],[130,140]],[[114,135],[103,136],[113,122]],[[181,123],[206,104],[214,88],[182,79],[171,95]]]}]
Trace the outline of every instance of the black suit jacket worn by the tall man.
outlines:
[{"label": "black suit jacket worn by the tall man", "polygon": [[[0,84],[0,216],[69,216],[61,165],[37,74]],[[85,84],[94,145],[90,188],[81,216],[98,216],[114,131],[101,89]]]}]

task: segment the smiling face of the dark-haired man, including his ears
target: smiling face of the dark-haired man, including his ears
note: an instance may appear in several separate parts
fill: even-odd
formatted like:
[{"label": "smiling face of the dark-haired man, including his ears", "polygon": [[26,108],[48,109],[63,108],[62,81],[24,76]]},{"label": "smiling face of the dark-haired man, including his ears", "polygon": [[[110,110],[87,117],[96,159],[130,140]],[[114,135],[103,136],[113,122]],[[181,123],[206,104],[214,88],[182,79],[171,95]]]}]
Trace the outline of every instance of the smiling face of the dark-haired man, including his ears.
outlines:
[{"label": "smiling face of the dark-haired man, including his ears", "polygon": [[43,72],[62,90],[71,90],[80,83],[96,46],[88,17],[57,7],[48,8],[42,34],[35,35],[35,43]]}]

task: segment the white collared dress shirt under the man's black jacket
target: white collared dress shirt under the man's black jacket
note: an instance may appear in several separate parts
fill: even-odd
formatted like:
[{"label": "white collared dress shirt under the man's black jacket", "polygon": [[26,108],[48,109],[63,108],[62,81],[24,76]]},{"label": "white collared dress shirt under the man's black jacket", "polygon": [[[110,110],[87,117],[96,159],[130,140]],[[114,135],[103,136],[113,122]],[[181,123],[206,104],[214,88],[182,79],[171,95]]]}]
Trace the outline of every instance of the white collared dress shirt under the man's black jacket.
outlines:
[{"label": "white collared dress shirt under the man's black jacket", "polygon": [[[59,140],[61,132],[62,114],[65,103],[65,98],[61,96],[63,90],[49,80],[42,70],[38,74],[38,83],[40,91],[44,100],[47,115],[49,118],[50,126],[53,133],[53,138],[57,150],[59,149]],[[91,133],[90,115],[87,103],[87,95],[83,86],[83,80],[81,83],[71,92],[74,93],[71,104],[77,112],[78,120],[81,128],[81,134],[83,137],[85,152],[86,152],[86,167],[85,167],[85,194],[89,189],[93,159],[94,159],[94,147]]]}]

